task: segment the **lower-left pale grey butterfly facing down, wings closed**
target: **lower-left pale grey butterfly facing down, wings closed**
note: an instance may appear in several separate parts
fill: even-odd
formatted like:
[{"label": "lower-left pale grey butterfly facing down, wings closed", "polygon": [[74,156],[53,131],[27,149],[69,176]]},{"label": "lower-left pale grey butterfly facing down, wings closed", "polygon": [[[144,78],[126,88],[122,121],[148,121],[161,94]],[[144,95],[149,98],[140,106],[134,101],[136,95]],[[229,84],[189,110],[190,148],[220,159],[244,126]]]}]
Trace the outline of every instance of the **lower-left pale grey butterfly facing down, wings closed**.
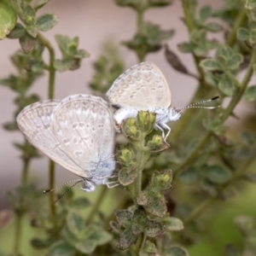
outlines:
[{"label": "lower-left pale grey butterfly facing down, wings closed", "polygon": [[108,185],[115,168],[113,114],[101,97],[37,102],[24,108],[17,122],[34,147],[81,177],[81,189]]}]

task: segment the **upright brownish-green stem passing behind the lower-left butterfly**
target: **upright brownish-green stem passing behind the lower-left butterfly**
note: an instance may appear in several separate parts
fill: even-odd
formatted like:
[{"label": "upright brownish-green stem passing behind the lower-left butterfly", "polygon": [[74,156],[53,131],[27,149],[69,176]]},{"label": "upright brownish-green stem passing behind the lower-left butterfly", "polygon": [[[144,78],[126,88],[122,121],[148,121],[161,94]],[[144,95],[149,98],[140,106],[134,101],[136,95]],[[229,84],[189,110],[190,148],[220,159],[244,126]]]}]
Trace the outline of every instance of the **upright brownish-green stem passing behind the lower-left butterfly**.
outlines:
[{"label": "upright brownish-green stem passing behind the lower-left butterfly", "polygon": [[[55,61],[55,51],[52,47],[52,45],[49,43],[49,40],[44,38],[42,34],[38,34],[38,40],[49,51],[49,68],[47,69],[49,71],[49,80],[48,80],[48,98],[53,99],[54,98],[54,90],[55,90],[55,67],[54,67],[54,61]],[[49,189],[55,188],[55,163],[52,160],[49,160]],[[55,192],[52,191],[49,193],[49,208],[51,212],[51,217],[53,221],[53,227],[54,231],[53,234],[55,236],[55,239],[57,239],[57,218],[56,218],[56,210],[55,210]]]}]

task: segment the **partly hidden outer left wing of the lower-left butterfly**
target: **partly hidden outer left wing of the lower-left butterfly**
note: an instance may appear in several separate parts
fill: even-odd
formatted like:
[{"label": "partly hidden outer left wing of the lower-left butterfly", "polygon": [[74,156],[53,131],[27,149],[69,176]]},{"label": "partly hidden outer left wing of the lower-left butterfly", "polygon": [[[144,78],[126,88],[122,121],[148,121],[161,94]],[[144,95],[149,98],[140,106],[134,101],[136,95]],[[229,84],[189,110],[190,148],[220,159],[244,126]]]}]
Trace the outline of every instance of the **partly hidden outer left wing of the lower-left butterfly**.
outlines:
[{"label": "partly hidden outer left wing of the lower-left butterfly", "polygon": [[53,131],[53,111],[59,102],[59,100],[49,100],[29,105],[17,116],[17,123],[20,131],[35,148],[60,166],[78,173],[79,166],[65,154]]}]

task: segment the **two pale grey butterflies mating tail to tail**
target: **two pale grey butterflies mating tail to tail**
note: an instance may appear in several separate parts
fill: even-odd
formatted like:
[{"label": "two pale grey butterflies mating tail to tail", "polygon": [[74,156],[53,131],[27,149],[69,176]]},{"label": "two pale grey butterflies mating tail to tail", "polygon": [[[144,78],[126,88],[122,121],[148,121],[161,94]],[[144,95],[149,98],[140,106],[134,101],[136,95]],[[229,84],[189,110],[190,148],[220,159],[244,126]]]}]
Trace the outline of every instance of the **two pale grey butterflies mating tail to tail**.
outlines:
[{"label": "two pale grey butterflies mating tail to tail", "polygon": [[[78,182],[83,183],[81,189],[85,191],[93,191],[97,184],[111,187],[108,177],[115,168],[113,119],[120,125],[124,119],[136,117],[140,110],[154,112],[155,129],[162,131],[166,140],[171,131],[166,123],[179,119],[185,109],[171,108],[171,90],[152,62],[140,63],[120,75],[107,97],[118,108],[114,115],[101,97],[74,95],[61,101],[34,103],[17,116],[20,131],[27,140],[81,177]],[[194,104],[186,108],[198,107]]]}]

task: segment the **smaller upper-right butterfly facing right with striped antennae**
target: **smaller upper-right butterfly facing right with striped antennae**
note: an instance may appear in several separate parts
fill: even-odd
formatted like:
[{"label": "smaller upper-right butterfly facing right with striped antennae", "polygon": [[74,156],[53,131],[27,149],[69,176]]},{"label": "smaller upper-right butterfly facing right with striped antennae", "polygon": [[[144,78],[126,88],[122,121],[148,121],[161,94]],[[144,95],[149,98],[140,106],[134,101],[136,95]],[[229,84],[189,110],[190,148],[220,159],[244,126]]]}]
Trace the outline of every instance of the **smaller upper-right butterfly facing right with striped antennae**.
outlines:
[{"label": "smaller upper-right butterfly facing right with striped antennae", "polygon": [[[171,107],[171,90],[164,74],[152,62],[137,64],[121,74],[107,92],[108,101],[118,110],[114,113],[117,130],[124,119],[134,118],[138,111],[144,110],[156,113],[154,128],[162,132],[165,139],[169,136],[171,128],[166,125],[169,121],[180,118],[186,108],[216,108],[196,106],[211,100],[197,102],[185,108]],[[166,135],[165,131],[168,130]]]}]

